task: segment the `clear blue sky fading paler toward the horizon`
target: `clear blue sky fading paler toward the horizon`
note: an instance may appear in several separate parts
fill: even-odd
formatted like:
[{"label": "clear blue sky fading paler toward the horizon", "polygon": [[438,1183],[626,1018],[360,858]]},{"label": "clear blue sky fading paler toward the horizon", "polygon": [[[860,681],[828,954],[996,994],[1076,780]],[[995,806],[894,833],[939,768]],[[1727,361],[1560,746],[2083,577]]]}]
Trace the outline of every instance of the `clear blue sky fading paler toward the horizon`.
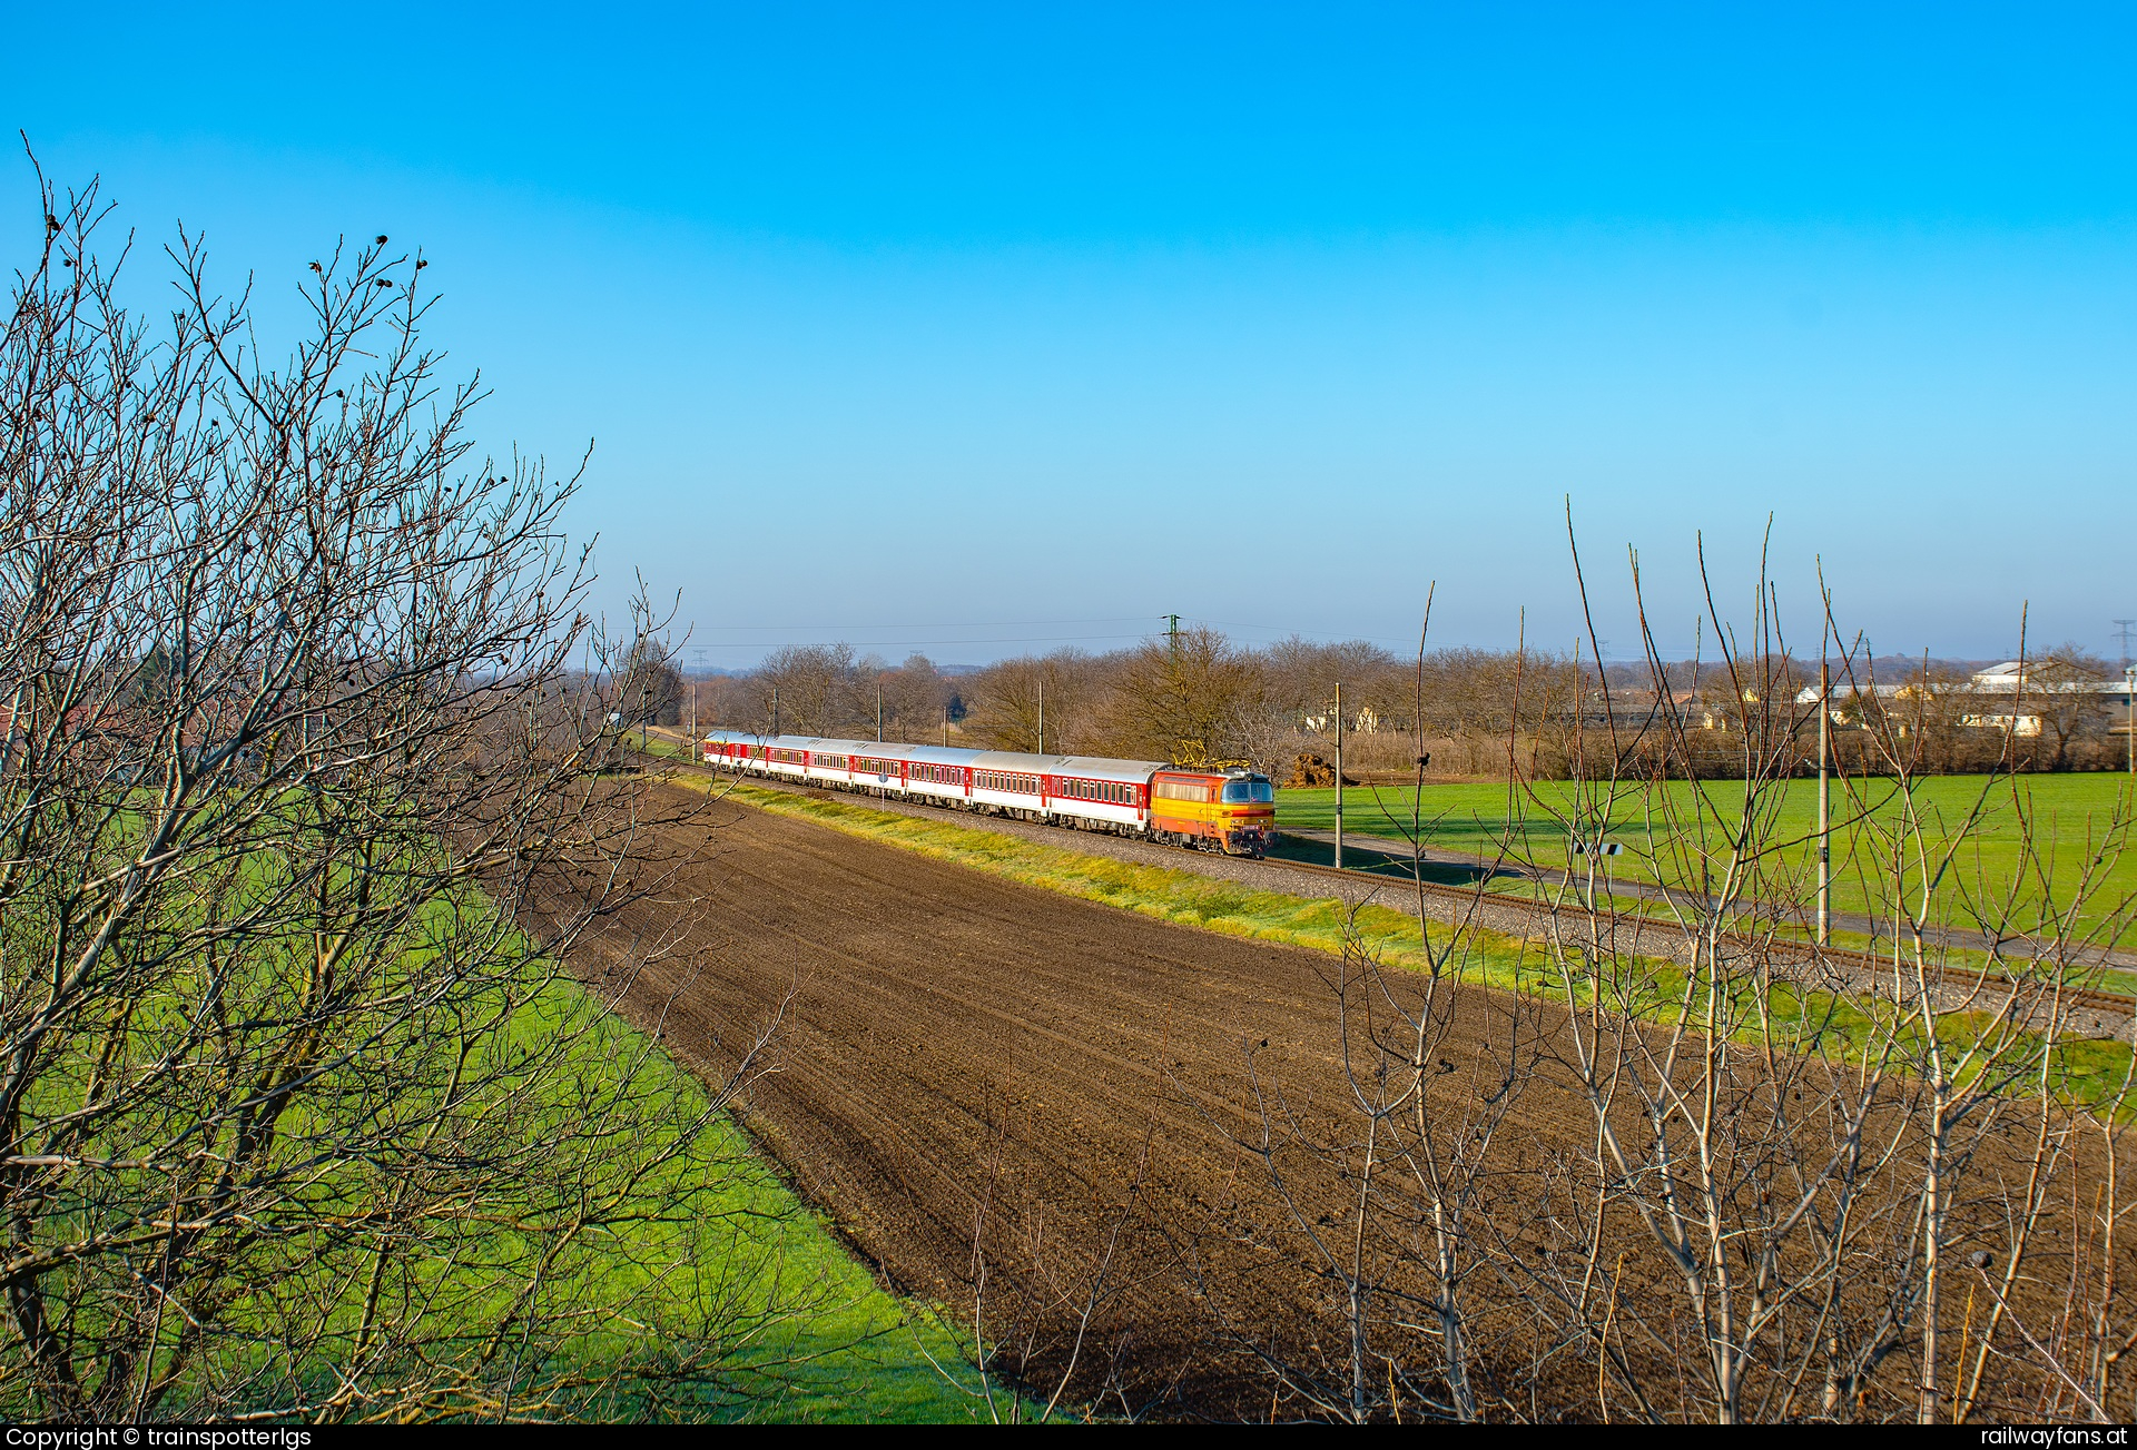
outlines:
[{"label": "clear blue sky fading paler toward the horizon", "polygon": [[1432,579],[1566,645],[1566,495],[1613,656],[1626,545],[1688,651],[1769,513],[1806,634],[1819,555],[1881,651],[2137,615],[2128,9],[6,11],[47,169],[269,310],[423,246],[483,440],[592,440],[716,664],[1400,643]]}]

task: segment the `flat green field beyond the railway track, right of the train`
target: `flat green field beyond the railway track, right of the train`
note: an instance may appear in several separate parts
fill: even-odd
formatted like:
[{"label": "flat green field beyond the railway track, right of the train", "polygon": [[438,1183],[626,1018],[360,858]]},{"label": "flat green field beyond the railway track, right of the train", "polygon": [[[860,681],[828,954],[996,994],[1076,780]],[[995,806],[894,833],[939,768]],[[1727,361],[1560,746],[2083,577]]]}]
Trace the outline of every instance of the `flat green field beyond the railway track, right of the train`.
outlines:
[{"label": "flat green field beyond the railway track, right of the train", "polygon": [[[1981,818],[1964,826],[1987,790]],[[1609,839],[1624,844],[1611,861],[1618,880],[1667,882],[1697,888],[1703,863],[1727,861],[1744,814],[1742,782],[1669,782],[1669,809],[1635,788],[1618,797],[1609,811]],[[1697,792],[1705,794],[1703,809]],[[1517,863],[1564,867],[1571,788],[1541,782],[1534,797],[1509,797],[1502,784],[1425,786],[1421,816],[1428,848],[1496,856],[1509,850]],[[2137,895],[2137,850],[2122,850],[2131,818],[2128,777],[2022,775],[1990,784],[1981,775],[1943,775],[1917,784],[1917,814],[1932,846],[1960,839],[1964,848],[1938,882],[1938,914],[1970,923],[1992,903],[2019,905],[2022,920],[2037,925],[2043,912],[2066,912],[2073,897],[2088,897],[2077,914],[2079,929],[2107,923],[2120,944],[2131,944],[2128,905]],[[1280,790],[1278,824],[1329,829],[1336,818],[1333,790]],[[1344,788],[1344,833],[1404,839],[1410,822],[1410,788]],[[1834,786],[1834,910],[1885,910],[1891,867],[1872,861],[1876,833],[1861,820],[1889,826],[1900,816],[1891,782],[1868,779]],[[1804,901],[1812,882],[1812,835],[1816,829],[1816,782],[1789,782],[1763,826],[1769,850],[1752,867],[1752,893],[1767,899]],[[2032,835],[2032,852],[2026,835]],[[1511,844],[1511,846],[1509,846]],[[1934,873],[1934,865],[1932,865]],[[2090,876],[2090,880],[2086,880]],[[1919,867],[1910,863],[1908,891],[1919,888]]]}]

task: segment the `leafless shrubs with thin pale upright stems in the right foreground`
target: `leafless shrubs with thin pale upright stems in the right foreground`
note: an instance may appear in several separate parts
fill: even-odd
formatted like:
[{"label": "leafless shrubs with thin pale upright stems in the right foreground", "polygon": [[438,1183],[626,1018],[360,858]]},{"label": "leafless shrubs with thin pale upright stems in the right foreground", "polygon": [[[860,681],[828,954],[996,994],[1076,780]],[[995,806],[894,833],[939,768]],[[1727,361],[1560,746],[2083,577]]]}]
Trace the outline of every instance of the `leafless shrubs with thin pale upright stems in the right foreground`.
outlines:
[{"label": "leafless shrubs with thin pale upright stems in the right foreground", "polygon": [[[1265,1243],[1323,1309],[1237,1350],[1293,1412],[1344,1420],[2131,1418],[2131,1057],[2077,1046],[2131,925],[2107,897],[2131,803],[2058,876],[2009,758],[1938,811],[1885,711],[1834,824],[1872,952],[1821,948],[1816,841],[1782,794],[1825,700],[1797,700],[1763,577],[1742,636],[1710,624],[1705,698],[1648,639],[1643,718],[1603,703],[1564,786],[1515,758],[1526,824],[1500,852],[1530,882],[1526,942],[1466,910],[1425,927],[1423,972],[1353,944],[1329,984],[1342,1125],[1293,1106],[1325,1083],[1257,1074],[1242,1151],[1286,1209]],[[1829,604],[1823,632],[1844,690]],[[1729,718],[1725,786],[1669,784],[1712,747],[1695,711]],[[2015,867],[1981,852],[1992,803]],[[1596,852],[1558,865],[1566,839],[1624,844],[1618,884]]]}]

